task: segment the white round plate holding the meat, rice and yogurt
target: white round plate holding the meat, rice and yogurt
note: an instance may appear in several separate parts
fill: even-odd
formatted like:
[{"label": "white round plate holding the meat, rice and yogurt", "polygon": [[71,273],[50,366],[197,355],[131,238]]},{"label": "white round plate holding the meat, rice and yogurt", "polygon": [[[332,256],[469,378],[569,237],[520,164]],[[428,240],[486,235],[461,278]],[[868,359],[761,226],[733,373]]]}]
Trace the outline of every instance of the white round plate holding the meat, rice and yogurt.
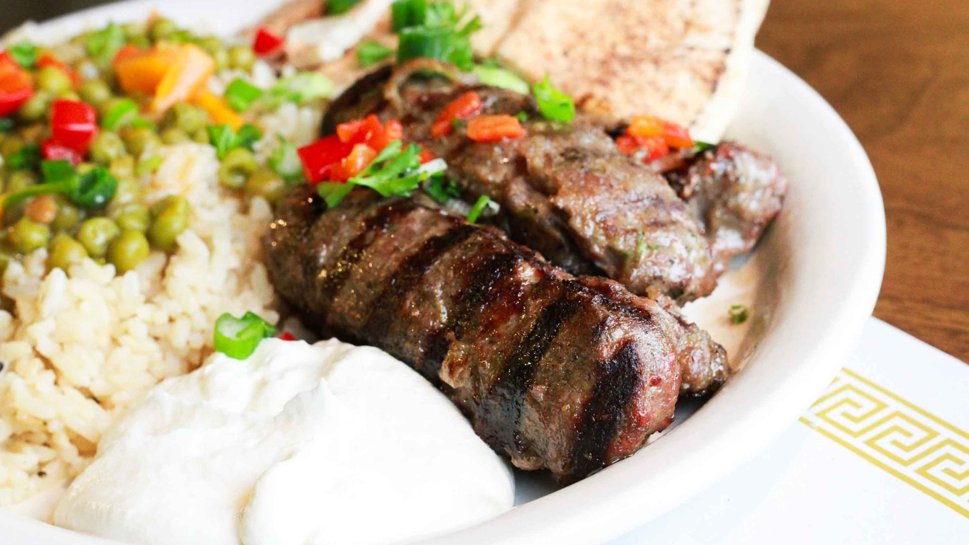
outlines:
[{"label": "white round plate holding the meat, rice and yogurt", "polygon": [[[274,0],[124,2],[66,16],[49,27],[77,32],[158,9],[182,24],[208,21],[228,34]],[[885,265],[878,182],[847,125],[806,83],[758,52],[729,137],[773,155],[791,182],[784,211],[754,258],[730,272],[711,298],[688,310],[743,365],[700,410],[641,452],[570,487],[517,473],[519,505],[427,545],[595,543],[641,526],[752,456],[815,399],[839,369],[875,304]],[[730,304],[751,307],[732,328]],[[684,420],[685,419],[685,420]],[[7,545],[107,545],[0,512]]]}]

